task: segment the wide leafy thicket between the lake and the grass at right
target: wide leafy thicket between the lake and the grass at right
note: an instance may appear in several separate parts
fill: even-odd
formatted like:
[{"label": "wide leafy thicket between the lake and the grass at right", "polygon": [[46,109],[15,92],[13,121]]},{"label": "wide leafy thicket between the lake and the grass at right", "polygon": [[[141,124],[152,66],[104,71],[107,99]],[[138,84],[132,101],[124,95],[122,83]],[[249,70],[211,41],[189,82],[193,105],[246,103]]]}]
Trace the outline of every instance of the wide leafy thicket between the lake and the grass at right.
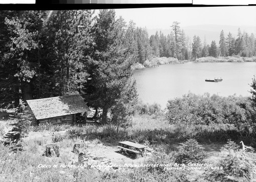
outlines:
[{"label": "wide leafy thicket between the lake and the grass at right", "polygon": [[167,118],[172,124],[233,124],[242,130],[252,123],[253,109],[248,97],[209,93],[188,93],[182,98],[168,100]]}]

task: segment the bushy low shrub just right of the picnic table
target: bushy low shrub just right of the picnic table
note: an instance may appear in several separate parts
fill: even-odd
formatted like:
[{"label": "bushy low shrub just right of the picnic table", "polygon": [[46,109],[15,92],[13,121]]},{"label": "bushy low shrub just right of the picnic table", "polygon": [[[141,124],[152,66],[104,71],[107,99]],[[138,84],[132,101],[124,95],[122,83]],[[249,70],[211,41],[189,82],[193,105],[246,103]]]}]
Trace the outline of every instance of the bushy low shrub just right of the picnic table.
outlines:
[{"label": "bushy low shrub just right of the picnic table", "polygon": [[187,164],[190,162],[199,162],[206,157],[203,147],[195,139],[188,139],[181,145],[177,147],[176,163]]}]

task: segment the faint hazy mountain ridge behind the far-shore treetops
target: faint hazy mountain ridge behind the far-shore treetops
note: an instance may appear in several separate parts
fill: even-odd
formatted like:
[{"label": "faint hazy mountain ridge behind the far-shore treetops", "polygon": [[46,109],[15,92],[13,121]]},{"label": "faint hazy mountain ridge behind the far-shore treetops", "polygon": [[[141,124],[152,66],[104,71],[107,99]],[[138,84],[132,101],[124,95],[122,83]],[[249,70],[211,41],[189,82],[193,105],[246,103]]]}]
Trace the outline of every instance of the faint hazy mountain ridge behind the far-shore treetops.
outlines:
[{"label": "faint hazy mountain ridge behind the far-shore treetops", "polygon": [[[253,26],[231,26],[231,25],[194,25],[194,26],[185,26],[182,27],[181,25],[181,30],[183,29],[185,34],[189,36],[190,41],[193,41],[194,35],[199,36],[201,38],[202,43],[204,42],[204,38],[206,39],[206,43],[210,45],[211,41],[216,41],[217,44],[219,44],[220,40],[220,33],[221,30],[224,31],[225,37],[227,34],[230,32],[232,36],[237,38],[238,34],[238,28],[241,29],[241,32],[243,33],[244,31],[247,32],[249,35],[251,33],[254,34],[256,37],[256,27]],[[172,29],[147,29],[148,35],[155,35],[156,31],[158,32],[163,32],[164,35],[168,35]]]}]

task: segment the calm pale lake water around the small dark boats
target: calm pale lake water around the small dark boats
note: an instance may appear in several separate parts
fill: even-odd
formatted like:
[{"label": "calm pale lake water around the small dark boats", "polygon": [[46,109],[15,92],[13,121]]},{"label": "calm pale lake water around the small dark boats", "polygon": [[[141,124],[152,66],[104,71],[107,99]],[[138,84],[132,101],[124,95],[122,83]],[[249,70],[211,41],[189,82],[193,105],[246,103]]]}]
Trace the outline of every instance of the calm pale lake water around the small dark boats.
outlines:
[{"label": "calm pale lake water around the small dark boats", "polygon": [[[182,97],[189,91],[206,92],[221,96],[250,96],[256,63],[194,63],[160,65],[156,68],[135,70],[139,98],[145,103],[158,103],[166,107],[168,99]],[[205,79],[222,78],[222,82]]]}]

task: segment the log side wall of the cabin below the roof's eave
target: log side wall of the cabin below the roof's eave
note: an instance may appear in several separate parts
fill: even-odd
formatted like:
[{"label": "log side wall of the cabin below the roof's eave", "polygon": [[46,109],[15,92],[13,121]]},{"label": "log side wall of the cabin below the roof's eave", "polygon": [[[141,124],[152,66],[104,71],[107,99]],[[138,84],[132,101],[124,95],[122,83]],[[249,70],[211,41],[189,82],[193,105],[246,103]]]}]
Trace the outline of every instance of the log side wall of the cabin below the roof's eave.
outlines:
[{"label": "log side wall of the cabin below the roof's eave", "polygon": [[74,123],[74,114],[66,115],[66,116],[59,116],[59,117],[51,117],[46,119],[39,119],[39,124],[53,124],[53,125],[69,125]]}]

